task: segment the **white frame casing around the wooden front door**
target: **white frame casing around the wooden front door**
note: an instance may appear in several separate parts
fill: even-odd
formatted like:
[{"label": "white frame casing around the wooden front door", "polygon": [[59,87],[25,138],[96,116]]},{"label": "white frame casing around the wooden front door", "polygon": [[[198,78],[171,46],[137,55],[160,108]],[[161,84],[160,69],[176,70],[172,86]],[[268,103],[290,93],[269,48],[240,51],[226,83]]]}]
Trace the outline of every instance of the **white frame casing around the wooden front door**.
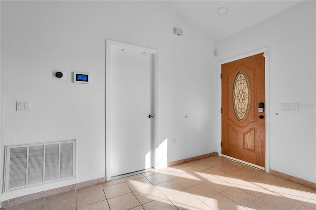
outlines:
[{"label": "white frame casing around the wooden front door", "polygon": [[266,151],[265,151],[265,171],[269,173],[270,169],[270,47],[265,47],[259,50],[255,50],[249,53],[245,53],[230,59],[225,59],[225,60],[220,60],[218,62],[218,78],[219,78],[219,144],[218,144],[218,155],[222,156],[222,147],[221,147],[221,142],[222,142],[222,114],[221,114],[221,107],[222,107],[222,79],[221,79],[221,72],[222,72],[222,64],[232,62],[235,60],[239,59],[244,59],[250,56],[254,56],[260,53],[264,53],[265,57],[265,91],[266,91],[266,97],[265,97],[265,118],[266,118],[266,125],[265,125],[265,131],[266,131],[266,138],[265,138],[265,144],[266,144]]}]

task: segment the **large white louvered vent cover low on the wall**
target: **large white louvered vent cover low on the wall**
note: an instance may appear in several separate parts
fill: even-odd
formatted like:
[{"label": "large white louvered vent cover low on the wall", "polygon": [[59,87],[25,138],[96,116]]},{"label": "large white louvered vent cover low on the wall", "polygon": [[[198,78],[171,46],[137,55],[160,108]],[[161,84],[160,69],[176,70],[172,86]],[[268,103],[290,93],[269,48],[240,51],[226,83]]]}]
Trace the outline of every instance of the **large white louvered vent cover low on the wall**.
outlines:
[{"label": "large white louvered vent cover low on the wall", "polygon": [[76,140],[5,146],[4,192],[74,179]]}]

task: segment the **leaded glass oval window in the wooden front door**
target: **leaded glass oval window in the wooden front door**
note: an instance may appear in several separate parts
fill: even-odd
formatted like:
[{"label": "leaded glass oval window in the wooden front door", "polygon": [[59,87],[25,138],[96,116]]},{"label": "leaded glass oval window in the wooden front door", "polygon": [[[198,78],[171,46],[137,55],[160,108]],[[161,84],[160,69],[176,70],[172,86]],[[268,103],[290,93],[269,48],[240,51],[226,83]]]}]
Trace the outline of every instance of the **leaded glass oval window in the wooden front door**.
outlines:
[{"label": "leaded glass oval window in the wooden front door", "polygon": [[233,107],[238,120],[242,121],[248,114],[250,104],[250,88],[247,76],[239,71],[233,86]]}]

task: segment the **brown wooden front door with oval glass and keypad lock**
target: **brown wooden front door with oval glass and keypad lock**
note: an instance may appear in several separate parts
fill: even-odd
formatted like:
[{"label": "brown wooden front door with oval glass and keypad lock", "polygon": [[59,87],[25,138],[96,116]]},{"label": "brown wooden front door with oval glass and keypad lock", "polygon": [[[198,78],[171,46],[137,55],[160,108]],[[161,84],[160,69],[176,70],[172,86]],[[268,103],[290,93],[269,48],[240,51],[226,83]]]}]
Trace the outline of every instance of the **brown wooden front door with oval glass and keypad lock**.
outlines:
[{"label": "brown wooden front door with oval glass and keypad lock", "polygon": [[265,58],[222,64],[222,154],[265,167]]}]

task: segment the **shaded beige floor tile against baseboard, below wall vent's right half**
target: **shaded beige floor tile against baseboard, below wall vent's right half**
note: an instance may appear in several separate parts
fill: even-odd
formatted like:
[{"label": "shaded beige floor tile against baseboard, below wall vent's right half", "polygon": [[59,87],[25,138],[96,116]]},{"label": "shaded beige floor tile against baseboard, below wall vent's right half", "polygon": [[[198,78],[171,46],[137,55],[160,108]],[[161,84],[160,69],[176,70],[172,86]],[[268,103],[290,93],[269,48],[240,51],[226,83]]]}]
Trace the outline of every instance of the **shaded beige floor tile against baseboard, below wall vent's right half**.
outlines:
[{"label": "shaded beige floor tile against baseboard, below wall vent's right half", "polygon": [[76,196],[45,202],[42,210],[74,210]]}]

